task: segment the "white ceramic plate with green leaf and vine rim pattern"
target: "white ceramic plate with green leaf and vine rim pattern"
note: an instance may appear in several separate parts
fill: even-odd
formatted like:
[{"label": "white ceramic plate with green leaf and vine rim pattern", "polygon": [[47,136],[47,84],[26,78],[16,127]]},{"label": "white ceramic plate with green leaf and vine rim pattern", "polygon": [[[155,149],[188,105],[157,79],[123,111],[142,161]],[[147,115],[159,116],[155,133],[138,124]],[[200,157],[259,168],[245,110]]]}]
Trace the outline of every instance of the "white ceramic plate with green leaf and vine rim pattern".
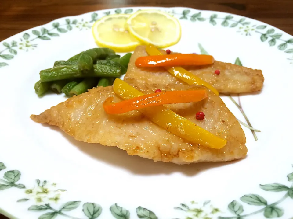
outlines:
[{"label": "white ceramic plate with green leaf and vine rim pattern", "polygon": [[[273,26],[222,12],[157,8],[182,25],[182,38],[171,50],[205,50],[216,60],[263,71],[262,92],[240,96],[252,126],[261,130],[255,141],[243,126],[248,155],[240,161],[155,163],[75,141],[29,118],[66,99],[38,98],[33,87],[40,70],[96,47],[90,30],[96,19],[139,9],[147,8],[61,18],[1,43],[0,213],[20,219],[293,217],[293,36]],[[222,99],[247,123],[230,98]]]}]

